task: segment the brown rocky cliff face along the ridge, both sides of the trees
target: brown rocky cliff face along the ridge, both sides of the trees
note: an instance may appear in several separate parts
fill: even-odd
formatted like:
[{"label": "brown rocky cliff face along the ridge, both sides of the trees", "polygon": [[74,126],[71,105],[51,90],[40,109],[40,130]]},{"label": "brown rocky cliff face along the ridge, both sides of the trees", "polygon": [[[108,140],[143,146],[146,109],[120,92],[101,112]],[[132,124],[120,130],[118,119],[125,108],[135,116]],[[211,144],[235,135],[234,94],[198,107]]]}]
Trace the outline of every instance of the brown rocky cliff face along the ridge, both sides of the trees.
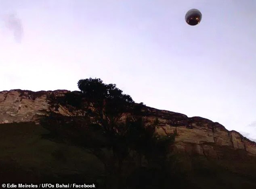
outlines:
[{"label": "brown rocky cliff face along the ridge, both sides of the trees", "polygon": [[[42,110],[48,109],[50,95],[63,95],[69,90],[38,91],[10,90],[0,92],[0,123],[38,120]],[[64,114],[63,112],[59,112]],[[237,131],[228,131],[223,125],[202,117],[187,117],[181,113],[145,107],[143,117],[159,120],[157,132],[177,131],[176,147],[188,154],[195,153],[220,158],[227,150],[256,156],[256,143]],[[238,157],[239,158],[239,157]]]}]

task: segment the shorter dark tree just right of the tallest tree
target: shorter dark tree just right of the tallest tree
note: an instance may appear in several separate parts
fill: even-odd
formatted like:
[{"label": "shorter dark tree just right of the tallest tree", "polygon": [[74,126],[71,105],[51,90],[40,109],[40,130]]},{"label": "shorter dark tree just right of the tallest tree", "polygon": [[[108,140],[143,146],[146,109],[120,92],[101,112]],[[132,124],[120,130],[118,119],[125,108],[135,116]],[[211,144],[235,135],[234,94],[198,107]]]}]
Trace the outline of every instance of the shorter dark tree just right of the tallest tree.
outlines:
[{"label": "shorter dark tree just right of the tallest tree", "polygon": [[[148,123],[143,117],[135,117],[126,124],[129,125],[127,137],[139,160],[139,167],[128,177],[128,184],[132,188],[169,188],[172,180],[170,155],[176,132],[157,134],[158,119]],[[143,157],[146,162],[142,164]]]}]

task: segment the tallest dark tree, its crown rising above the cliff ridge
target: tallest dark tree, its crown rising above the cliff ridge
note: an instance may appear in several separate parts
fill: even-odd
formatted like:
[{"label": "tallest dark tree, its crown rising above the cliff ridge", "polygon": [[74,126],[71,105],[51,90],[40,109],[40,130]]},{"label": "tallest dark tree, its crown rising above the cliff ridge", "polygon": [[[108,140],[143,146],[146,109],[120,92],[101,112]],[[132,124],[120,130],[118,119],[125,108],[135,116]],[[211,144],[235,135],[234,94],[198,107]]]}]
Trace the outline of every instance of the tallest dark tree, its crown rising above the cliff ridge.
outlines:
[{"label": "tallest dark tree, its crown rising above the cliff ridge", "polygon": [[[107,171],[120,175],[123,160],[128,156],[130,150],[128,140],[126,140],[127,125],[121,123],[120,118],[124,113],[131,112],[134,107],[139,111],[143,103],[140,104],[140,107],[136,106],[132,98],[122,94],[123,91],[118,89],[115,84],[104,84],[99,78],[79,80],[78,88],[81,92],[67,92],[62,96],[52,94],[49,102],[48,120],[53,120],[52,118],[56,117],[54,111],[59,110],[72,117],[73,123],[71,121],[67,124],[66,121],[63,123],[61,120],[58,122],[58,119],[55,118],[54,121],[51,121],[55,124],[55,129],[51,128],[52,124],[48,124],[48,129],[52,129],[55,135],[59,131],[58,135],[67,134],[69,136],[71,134],[68,130],[78,131],[73,135],[76,136],[73,137],[73,142],[76,141],[79,145],[89,148],[105,164]],[[79,121],[81,121],[80,124],[78,124]],[[45,122],[44,125],[46,125]],[[73,128],[68,125],[72,125]],[[103,146],[89,145],[94,143],[97,138],[85,134],[84,131],[90,129],[94,131],[97,129],[97,132],[105,138],[106,141]],[[90,132],[90,134],[92,133]],[[102,147],[111,149],[114,157],[111,160],[112,163],[106,157]],[[117,169],[115,162],[118,162]]]}]

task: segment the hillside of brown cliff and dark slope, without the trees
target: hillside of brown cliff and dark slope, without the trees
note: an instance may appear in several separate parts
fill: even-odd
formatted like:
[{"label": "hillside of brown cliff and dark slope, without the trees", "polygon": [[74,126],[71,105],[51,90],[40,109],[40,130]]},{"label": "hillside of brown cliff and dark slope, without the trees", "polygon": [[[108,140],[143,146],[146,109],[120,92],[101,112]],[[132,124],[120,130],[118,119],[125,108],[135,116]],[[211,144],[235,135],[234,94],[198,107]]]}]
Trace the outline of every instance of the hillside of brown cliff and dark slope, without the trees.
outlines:
[{"label": "hillside of brown cliff and dark slope, without the trees", "polygon": [[[68,90],[0,92],[0,180],[99,181],[103,164],[86,150],[43,138],[39,117],[50,95]],[[59,110],[63,117],[67,115]],[[177,132],[180,169],[192,188],[256,187],[256,143],[202,117],[144,107],[142,117],[159,120],[157,133]],[[126,115],[124,115],[126,117]],[[88,171],[90,170],[90,171]]]}]

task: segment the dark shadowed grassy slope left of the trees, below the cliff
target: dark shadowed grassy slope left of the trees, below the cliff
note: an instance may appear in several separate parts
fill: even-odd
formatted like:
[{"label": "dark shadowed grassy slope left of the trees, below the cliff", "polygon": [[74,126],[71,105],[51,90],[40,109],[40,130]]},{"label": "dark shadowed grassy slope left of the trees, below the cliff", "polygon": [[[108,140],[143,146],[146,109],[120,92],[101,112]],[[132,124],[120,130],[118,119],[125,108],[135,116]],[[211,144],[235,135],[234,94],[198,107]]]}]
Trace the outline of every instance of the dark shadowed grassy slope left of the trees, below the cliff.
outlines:
[{"label": "dark shadowed grassy slope left of the trees, below the cliff", "polygon": [[0,181],[95,181],[102,173],[103,165],[93,155],[42,134],[47,130],[34,123],[0,125]]}]

